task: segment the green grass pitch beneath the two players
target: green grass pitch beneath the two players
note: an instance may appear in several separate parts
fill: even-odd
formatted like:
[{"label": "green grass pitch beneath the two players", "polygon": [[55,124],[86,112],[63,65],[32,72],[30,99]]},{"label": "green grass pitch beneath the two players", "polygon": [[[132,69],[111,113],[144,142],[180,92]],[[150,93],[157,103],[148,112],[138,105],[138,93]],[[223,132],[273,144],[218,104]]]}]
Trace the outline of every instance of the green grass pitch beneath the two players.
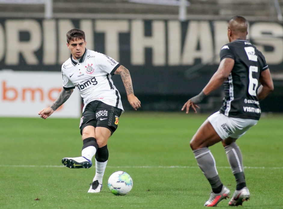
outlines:
[{"label": "green grass pitch beneath the two players", "polygon": [[[189,141],[208,115],[129,112],[109,139],[103,188],[88,194],[95,174],[69,169],[63,157],[81,155],[79,119],[0,118],[0,208],[204,208],[210,185]],[[251,200],[241,208],[282,208],[282,115],[262,116],[237,142]],[[210,147],[220,179],[235,190],[222,144]],[[128,195],[115,196],[107,180],[123,170],[133,179]],[[232,195],[232,194],[231,194]],[[228,208],[228,200],[217,207]]]}]

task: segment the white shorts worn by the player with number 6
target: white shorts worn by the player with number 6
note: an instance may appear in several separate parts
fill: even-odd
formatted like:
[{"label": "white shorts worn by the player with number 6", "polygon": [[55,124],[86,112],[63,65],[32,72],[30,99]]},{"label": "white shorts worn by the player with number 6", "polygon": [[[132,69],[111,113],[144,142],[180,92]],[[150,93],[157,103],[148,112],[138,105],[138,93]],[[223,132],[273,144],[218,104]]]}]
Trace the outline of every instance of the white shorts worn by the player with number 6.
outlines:
[{"label": "white shorts worn by the player with number 6", "polygon": [[254,119],[231,118],[219,111],[209,116],[208,121],[223,140],[228,137],[240,138],[258,122],[258,120]]}]

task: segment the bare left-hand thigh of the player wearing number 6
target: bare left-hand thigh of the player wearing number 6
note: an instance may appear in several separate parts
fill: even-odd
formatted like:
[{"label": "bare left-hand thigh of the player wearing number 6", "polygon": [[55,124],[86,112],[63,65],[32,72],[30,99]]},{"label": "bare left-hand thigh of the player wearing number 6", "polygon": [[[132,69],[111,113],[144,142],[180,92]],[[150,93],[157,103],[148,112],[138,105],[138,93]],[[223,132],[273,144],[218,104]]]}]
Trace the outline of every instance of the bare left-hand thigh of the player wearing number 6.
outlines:
[{"label": "bare left-hand thigh of the player wearing number 6", "polygon": [[192,150],[201,149],[204,147],[212,146],[222,139],[219,137],[217,132],[214,130],[211,123],[207,120],[198,128],[198,131],[192,137],[190,146]]}]

